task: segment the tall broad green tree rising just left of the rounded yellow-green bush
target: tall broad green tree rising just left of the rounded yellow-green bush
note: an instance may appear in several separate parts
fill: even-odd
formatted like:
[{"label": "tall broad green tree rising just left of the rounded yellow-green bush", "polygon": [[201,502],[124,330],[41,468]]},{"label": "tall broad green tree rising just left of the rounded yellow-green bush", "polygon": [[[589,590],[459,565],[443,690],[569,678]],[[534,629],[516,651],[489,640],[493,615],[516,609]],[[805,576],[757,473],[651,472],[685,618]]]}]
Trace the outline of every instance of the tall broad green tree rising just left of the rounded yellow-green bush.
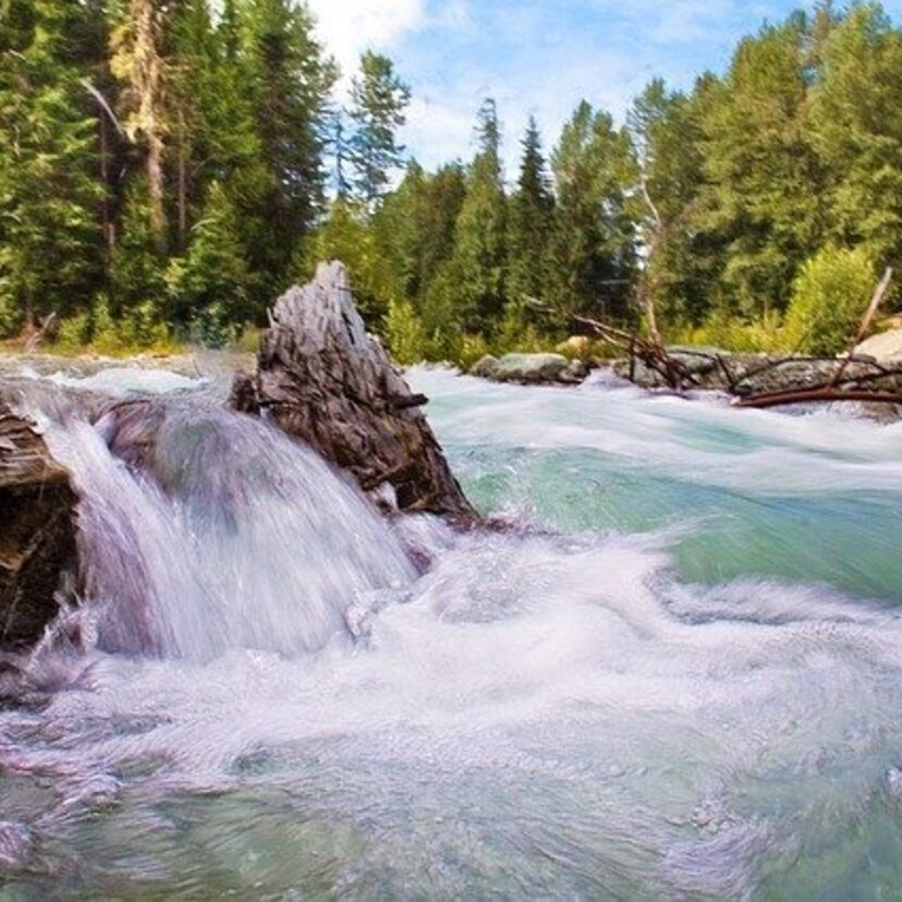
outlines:
[{"label": "tall broad green tree rising just left of the rounded yellow-green bush", "polygon": [[703,111],[710,188],[696,222],[722,248],[720,305],[746,317],[785,307],[799,266],[821,241],[821,172],[805,121],[807,45],[801,14],[744,39]]}]

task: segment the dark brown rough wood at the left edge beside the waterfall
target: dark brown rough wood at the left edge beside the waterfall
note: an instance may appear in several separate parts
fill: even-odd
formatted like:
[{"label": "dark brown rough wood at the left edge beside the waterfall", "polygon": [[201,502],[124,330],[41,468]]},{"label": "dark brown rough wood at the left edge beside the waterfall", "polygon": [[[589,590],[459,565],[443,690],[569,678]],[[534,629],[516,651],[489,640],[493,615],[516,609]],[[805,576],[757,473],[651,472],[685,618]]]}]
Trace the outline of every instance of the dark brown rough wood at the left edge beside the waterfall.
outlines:
[{"label": "dark brown rough wood at the left edge beside the waterfall", "polygon": [[0,403],[0,648],[33,645],[58,613],[75,572],[76,503],[34,425]]}]

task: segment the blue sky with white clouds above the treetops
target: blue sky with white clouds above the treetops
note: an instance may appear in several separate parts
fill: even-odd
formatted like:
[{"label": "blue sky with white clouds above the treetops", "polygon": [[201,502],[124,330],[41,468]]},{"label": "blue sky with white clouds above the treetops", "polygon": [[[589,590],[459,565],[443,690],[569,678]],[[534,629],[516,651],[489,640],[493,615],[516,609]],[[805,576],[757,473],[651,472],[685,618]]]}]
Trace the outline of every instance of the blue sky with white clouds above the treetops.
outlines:
[{"label": "blue sky with white clouds above the treetops", "polygon": [[[655,76],[681,88],[724,71],[732,49],[792,0],[307,0],[344,84],[367,48],[411,86],[407,153],[427,168],[468,160],[476,112],[493,97],[509,174],[527,118],[546,148],[581,99],[622,121]],[[810,3],[805,4],[810,8]],[[902,22],[902,0],[883,3]]]}]

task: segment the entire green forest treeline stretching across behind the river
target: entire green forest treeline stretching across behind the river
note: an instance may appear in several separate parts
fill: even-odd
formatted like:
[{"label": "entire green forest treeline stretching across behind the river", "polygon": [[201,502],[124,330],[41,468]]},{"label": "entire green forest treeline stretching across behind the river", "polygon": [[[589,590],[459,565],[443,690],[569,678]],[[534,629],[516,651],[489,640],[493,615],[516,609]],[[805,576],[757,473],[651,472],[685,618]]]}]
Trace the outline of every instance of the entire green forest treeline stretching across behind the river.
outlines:
[{"label": "entire green forest treeline stretching across behind the river", "polygon": [[[902,32],[819,3],[624,123],[581,101],[505,169],[427,171],[410,90],[339,71],[292,0],[0,0],[0,333],[217,344],[322,258],[404,359],[549,346],[574,316],[748,349],[837,350],[902,261]],[[592,85],[586,86],[590,94]]]}]

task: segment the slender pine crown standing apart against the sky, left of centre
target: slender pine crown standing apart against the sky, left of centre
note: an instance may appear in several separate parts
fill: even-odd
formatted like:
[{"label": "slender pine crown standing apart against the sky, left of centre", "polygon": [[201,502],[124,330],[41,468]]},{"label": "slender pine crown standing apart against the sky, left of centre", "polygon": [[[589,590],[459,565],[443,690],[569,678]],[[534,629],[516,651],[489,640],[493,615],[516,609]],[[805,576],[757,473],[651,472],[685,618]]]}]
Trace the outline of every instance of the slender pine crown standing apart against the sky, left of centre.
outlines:
[{"label": "slender pine crown standing apart against the sky, left of centre", "polygon": [[395,75],[391,60],[367,50],[351,85],[349,110],[355,125],[349,143],[353,185],[366,204],[385,194],[391,170],[401,164],[404,148],[398,144],[397,133],[406,121],[404,110],[410,99],[411,90]]}]

